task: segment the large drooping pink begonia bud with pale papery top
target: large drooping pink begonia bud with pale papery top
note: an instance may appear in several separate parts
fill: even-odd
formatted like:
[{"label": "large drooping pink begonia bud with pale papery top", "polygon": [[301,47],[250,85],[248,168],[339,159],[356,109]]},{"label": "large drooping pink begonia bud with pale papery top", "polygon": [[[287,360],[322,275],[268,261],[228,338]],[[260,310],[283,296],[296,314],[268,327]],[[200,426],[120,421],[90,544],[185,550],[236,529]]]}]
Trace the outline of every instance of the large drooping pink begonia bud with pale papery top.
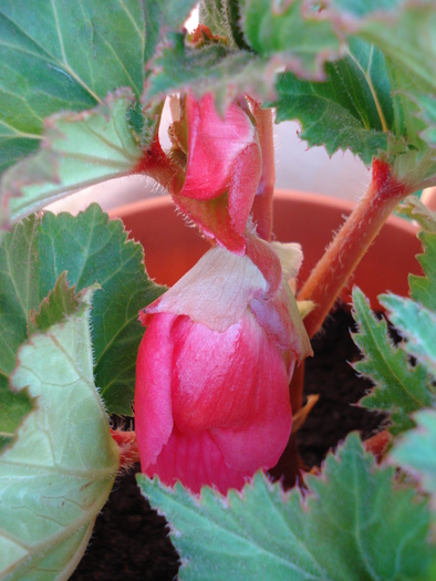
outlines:
[{"label": "large drooping pink begonia bud with pale papery top", "polygon": [[[301,251],[293,246],[291,253],[294,273]],[[248,256],[216,247],[141,319],[142,470],[194,492],[209,485],[225,494],[274,466],[291,433],[289,380],[311,352],[284,278],[271,286]]]}]

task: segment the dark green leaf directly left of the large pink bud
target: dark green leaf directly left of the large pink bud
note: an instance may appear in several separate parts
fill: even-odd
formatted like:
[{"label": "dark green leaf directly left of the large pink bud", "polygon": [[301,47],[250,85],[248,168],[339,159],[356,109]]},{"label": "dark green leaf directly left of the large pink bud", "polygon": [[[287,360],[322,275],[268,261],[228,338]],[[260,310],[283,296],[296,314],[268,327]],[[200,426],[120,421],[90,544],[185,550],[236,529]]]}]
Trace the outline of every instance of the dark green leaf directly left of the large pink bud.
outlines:
[{"label": "dark green leaf directly left of the large pink bud", "polygon": [[76,291],[95,282],[102,287],[92,310],[95,381],[111,413],[132,415],[136,354],[144,334],[138,311],[165,289],[146,276],[142,246],[127,241],[121,220],[108,220],[95,204],[77,217],[46,212],[40,232],[43,297],[64,270]]}]

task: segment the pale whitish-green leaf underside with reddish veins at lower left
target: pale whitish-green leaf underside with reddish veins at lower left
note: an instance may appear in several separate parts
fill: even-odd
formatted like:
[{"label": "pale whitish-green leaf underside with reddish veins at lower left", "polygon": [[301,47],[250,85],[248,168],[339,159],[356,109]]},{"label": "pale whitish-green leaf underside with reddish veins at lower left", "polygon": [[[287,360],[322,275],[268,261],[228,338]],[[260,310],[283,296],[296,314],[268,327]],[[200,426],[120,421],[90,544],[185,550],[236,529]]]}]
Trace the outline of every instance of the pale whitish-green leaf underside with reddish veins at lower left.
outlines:
[{"label": "pale whitish-green leaf underside with reddish veins at lower left", "polygon": [[89,310],[22,345],[11,377],[38,407],[0,456],[0,577],[68,579],[118,468],[93,382]]}]

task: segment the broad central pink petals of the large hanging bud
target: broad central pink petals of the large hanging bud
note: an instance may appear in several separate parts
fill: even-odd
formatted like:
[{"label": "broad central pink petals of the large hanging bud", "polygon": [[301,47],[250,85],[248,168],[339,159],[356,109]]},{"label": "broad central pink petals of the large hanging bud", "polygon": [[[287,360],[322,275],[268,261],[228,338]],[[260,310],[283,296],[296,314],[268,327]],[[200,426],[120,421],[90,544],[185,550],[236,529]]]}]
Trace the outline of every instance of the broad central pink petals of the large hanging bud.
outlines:
[{"label": "broad central pink petals of the large hanging bud", "polygon": [[247,312],[224,333],[181,318],[175,325],[173,413],[177,428],[210,429],[238,471],[273,466],[292,424],[281,351]]}]

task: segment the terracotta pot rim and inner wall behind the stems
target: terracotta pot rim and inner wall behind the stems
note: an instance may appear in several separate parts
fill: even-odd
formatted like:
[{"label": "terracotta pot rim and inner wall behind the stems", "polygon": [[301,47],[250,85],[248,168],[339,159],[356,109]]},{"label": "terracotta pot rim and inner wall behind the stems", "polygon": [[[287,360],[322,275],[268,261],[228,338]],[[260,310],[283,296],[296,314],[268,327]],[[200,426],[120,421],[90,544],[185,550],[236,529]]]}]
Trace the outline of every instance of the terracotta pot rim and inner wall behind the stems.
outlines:
[{"label": "terracotta pot rim and inner wall behind the stems", "polygon": [[[274,236],[282,242],[300,242],[304,261],[299,282],[305,280],[322,256],[353,204],[315,194],[277,190],[274,194]],[[188,228],[175,210],[169,196],[146,199],[111,211],[123,219],[131,237],[142,242],[149,276],[157,282],[174,284],[210,248],[195,228]],[[407,273],[422,273],[415,259],[421,251],[416,228],[408,221],[391,217],[349,286],[357,284],[380,308],[381,292],[408,293]],[[349,302],[350,293],[343,299]]]}]

